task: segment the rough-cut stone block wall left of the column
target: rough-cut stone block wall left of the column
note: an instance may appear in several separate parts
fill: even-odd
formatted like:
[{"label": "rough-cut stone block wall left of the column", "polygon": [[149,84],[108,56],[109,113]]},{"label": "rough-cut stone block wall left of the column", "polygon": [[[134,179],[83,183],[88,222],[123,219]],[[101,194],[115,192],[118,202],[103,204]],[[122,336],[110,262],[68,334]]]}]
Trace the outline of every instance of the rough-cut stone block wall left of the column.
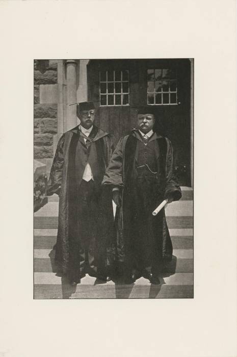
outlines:
[{"label": "rough-cut stone block wall left of the column", "polygon": [[50,166],[57,134],[58,63],[34,61],[34,158]]}]

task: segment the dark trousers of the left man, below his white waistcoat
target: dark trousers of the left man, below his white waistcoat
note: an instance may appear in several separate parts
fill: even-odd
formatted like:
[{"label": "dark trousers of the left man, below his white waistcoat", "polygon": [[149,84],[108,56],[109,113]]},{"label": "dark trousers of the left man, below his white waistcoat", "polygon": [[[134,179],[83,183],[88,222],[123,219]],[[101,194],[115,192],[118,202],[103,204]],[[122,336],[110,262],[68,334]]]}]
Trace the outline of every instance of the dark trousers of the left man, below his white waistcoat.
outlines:
[{"label": "dark trousers of the left man, below his white waistcoat", "polygon": [[76,280],[86,273],[96,276],[98,199],[93,180],[82,180],[77,190],[75,215],[77,229],[69,240],[70,278]]}]

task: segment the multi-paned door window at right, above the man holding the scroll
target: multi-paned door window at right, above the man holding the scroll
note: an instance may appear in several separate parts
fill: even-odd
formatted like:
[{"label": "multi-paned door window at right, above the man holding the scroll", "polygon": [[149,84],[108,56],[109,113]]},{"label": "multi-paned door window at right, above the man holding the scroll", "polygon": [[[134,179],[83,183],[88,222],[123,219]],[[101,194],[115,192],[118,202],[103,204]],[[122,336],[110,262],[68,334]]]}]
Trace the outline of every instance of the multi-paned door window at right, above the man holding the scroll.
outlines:
[{"label": "multi-paned door window at right, above the man holding the scroll", "polygon": [[147,104],[156,106],[177,104],[176,69],[147,69]]}]

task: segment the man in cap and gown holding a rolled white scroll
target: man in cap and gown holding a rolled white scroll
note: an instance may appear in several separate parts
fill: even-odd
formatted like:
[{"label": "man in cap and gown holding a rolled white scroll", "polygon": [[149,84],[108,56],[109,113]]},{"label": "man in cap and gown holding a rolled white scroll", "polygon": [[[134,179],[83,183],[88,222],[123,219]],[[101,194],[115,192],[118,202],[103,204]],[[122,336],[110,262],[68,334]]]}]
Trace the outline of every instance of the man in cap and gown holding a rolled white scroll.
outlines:
[{"label": "man in cap and gown holding a rolled white scroll", "polygon": [[113,152],[102,184],[113,189],[117,205],[117,261],[125,284],[148,278],[160,284],[159,274],[172,259],[165,209],[152,212],[164,199],[181,197],[168,138],[154,132],[154,110],[138,110],[137,129],[122,137]]}]

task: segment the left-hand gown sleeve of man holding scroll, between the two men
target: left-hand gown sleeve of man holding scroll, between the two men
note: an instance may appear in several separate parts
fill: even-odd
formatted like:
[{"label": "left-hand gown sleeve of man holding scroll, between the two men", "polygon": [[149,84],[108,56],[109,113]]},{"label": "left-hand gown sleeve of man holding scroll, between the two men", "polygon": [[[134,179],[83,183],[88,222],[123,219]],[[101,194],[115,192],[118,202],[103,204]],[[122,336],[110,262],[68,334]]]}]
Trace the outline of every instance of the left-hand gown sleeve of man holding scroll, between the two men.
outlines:
[{"label": "left-hand gown sleeve of man holding scroll, between the two men", "polygon": [[111,187],[122,187],[122,142],[121,138],[112,154],[106,173],[104,174],[102,185],[110,185]]}]

